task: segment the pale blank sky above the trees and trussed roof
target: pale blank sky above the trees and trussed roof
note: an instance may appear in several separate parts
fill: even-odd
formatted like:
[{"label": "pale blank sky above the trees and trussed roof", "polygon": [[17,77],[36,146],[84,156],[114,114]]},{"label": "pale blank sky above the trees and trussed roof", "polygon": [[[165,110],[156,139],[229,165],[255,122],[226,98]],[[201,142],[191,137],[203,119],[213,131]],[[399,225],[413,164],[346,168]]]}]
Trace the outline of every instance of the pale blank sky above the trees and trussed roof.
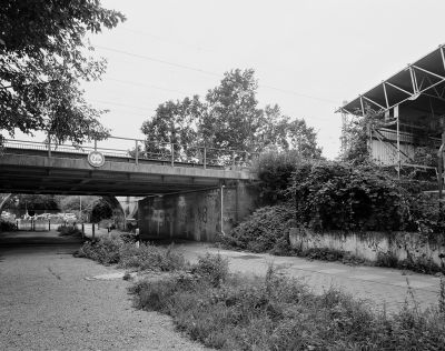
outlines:
[{"label": "pale blank sky above the trees and trussed roof", "polygon": [[445,42],[443,0],[102,0],[102,4],[123,12],[127,21],[91,37],[96,52],[109,64],[101,82],[86,86],[87,97],[96,107],[111,110],[102,123],[112,134],[130,138],[142,137],[142,121],[155,114],[159,103],[204,96],[225,71],[254,68],[260,107],[278,103],[285,114],[304,118],[318,132],[324,156],[335,158],[340,114],[334,110],[342,101]]}]

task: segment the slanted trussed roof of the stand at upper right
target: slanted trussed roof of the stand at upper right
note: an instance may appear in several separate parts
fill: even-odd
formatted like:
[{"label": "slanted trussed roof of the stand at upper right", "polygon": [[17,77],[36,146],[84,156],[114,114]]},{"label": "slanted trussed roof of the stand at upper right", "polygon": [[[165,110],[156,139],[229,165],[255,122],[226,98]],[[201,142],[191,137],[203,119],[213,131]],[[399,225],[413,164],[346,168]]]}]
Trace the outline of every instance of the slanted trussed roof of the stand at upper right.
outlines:
[{"label": "slanted trussed roof of the stand at upper right", "polygon": [[[364,116],[366,109],[388,112],[399,106],[408,114],[445,114],[445,46],[345,103],[340,111]],[[404,111],[400,110],[400,114]],[[415,113],[418,112],[418,113]],[[412,121],[415,122],[415,121]]]}]

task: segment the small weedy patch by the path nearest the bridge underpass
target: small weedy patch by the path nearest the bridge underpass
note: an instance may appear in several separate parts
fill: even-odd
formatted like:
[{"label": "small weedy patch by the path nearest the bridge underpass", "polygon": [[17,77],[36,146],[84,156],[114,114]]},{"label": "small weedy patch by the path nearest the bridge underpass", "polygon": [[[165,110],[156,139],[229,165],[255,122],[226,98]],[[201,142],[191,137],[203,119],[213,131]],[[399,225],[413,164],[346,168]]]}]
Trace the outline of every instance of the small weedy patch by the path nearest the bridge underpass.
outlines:
[{"label": "small weedy patch by the path nearest the bridge underpass", "polygon": [[76,255],[102,264],[118,263],[121,268],[135,270],[174,271],[184,268],[184,257],[171,249],[146,243],[137,247],[119,234],[111,234],[101,237],[98,241],[83,243]]}]

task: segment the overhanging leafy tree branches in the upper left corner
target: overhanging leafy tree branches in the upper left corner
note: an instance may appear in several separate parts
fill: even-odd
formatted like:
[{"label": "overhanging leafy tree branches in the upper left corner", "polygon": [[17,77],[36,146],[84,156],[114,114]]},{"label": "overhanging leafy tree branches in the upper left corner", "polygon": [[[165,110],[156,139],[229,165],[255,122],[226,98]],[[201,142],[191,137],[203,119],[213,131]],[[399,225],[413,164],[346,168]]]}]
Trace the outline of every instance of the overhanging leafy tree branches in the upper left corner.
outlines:
[{"label": "overhanging leafy tree branches in the upper left corner", "polygon": [[[82,97],[82,80],[100,78],[106,62],[88,56],[87,32],[125,17],[98,0],[3,0],[0,7],[0,130],[47,131],[57,142],[107,137]],[[2,143],[0,136],[0,144]]]}]

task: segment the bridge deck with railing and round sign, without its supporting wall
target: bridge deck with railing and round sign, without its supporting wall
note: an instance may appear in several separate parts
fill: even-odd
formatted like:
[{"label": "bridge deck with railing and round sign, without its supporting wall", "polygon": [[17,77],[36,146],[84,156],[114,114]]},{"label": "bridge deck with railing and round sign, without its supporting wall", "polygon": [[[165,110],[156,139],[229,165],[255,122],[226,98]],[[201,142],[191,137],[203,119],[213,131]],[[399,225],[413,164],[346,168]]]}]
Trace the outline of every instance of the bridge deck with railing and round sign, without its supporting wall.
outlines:
[{"label": "bridge deck with railing and round sign, without its supporting wall", "polygon": [[111,137],[128,148],[55,146],[6,140],[0,156],[1,193],[146,197],[219,187],[253,179],[251,154]]}]

